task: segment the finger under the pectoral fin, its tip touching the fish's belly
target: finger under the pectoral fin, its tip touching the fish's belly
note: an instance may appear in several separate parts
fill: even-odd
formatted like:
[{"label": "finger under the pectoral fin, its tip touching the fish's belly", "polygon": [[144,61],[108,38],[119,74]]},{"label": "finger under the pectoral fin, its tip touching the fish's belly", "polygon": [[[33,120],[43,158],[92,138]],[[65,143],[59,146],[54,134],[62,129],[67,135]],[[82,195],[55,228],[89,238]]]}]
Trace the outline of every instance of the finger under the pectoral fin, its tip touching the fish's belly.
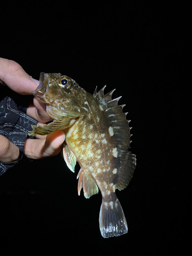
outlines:
[{"label": "finger under the pectoral fin, its tip touching the fish's belly", "polygon": [[26,139],[24,152],[32,159],[55,156],[59,154],[64,140],[65,134],[59,130],[47,135],[46,139]]}]

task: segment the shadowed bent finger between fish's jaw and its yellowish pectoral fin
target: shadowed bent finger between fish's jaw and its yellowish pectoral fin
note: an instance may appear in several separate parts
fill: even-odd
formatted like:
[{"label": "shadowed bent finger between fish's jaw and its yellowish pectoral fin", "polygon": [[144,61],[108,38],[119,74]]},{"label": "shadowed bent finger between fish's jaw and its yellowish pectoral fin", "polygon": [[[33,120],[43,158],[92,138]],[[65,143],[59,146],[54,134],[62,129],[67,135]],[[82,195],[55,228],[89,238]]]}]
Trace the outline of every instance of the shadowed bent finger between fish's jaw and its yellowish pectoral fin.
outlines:
[{"label": "shadowed bent finger between fish's jaw and its yellowish pectoral fin", "polygon": [[42,123],[52,120],[46,112],[46,104],[39,102],[36,98],[33,99],[33,104],[28,106],[27,114]]}]

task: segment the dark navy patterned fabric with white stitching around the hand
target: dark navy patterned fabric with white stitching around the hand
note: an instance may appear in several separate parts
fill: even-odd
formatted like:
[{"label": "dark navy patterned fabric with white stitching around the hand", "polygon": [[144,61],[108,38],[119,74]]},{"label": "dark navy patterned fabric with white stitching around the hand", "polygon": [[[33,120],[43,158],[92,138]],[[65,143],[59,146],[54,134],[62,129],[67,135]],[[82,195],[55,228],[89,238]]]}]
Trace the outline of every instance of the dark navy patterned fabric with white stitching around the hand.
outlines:
[{"label": "dark navy patterned fabric with white stitching around the hand", "polygon": [[[23,96],[25,97],[25,96]],[[20,151],[17,161],[3,163],[0,161],[0,176],[10,167],[13,167],[24,154],[24,145],[29,131],[32,131],[31,125],[36,125],[37,121],[26,114],[26,108],[19,107],[15,101],[6,96],[0,101],[0,134],[14,143]]]}]

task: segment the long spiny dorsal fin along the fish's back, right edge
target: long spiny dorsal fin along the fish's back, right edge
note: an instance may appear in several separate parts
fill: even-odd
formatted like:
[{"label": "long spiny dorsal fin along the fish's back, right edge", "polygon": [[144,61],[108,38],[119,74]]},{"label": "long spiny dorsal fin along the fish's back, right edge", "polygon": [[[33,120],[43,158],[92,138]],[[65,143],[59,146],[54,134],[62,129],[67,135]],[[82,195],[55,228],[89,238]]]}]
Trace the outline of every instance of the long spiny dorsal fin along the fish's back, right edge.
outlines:
[{"label": "long spiny dorsal fin along the fish's back, right edge", "polygon": [[108,118],[110,126],[113,128],[114,138],[116,142],[120,168],[118,169],[114,184],[119,190],[125,188],[132,176],[136,165],[136,156],[129,152],[131,136],[129,127],[130,120],[126,120],[126,114],[122,109],[125,105],[118,105],[121,97],[112,99],[112,94],[115,90],[104,94],[104,86],[99,92],[97,87],[94,91],[94,97],[102,105],[102,108]]}]

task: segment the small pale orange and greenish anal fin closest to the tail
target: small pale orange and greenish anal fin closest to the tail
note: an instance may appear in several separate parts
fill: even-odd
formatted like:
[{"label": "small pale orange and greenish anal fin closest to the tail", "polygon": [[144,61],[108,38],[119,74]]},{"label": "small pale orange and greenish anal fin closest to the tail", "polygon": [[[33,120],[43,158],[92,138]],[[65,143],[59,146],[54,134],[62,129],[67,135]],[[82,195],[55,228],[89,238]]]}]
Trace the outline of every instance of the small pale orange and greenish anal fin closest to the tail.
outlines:
[{"label": "small pale orange and greenish anal fin closest to the tail", "polygon": [[91,196],[99,192],[98,186],[92,180],[92,178],[83,170],[79,170],[77,175],[78,180],[78,195],[80,196],[81,188],[83,188],[83,193],[85,198],[90,198]]}]

